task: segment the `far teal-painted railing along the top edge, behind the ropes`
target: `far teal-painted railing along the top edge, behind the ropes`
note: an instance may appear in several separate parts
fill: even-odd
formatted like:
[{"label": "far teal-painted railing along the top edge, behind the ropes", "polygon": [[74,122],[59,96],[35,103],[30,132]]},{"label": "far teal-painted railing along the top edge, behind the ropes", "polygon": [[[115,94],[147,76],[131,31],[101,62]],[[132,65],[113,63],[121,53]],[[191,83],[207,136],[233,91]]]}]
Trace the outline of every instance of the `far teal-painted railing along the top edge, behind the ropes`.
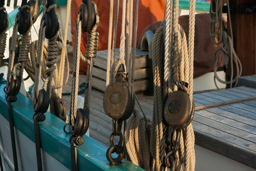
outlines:
[{"label": "far teal-painted railing along the top edge, behind the ropes", "polygon": [[[57,6],[65,6],[67,5],[67,0],[55,0]],[[189,9],[189,0],[180,0],[179,1],[180,9]],[[200,2],[196,1],[196,10],[200,11],[209,11],[210,3],[209,2]]]}]

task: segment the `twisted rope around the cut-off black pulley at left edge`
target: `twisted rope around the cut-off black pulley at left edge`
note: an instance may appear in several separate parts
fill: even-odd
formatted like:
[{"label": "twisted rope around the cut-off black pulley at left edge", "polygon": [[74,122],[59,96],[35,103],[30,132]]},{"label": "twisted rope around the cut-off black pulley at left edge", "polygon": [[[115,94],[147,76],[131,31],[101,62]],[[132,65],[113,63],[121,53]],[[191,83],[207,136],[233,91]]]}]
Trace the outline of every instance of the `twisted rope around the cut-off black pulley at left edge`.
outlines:
[{"label": "twisted rope around the cut-off black pulley at left edge", "polygon": [[[6,11],[6,8],[1,7],[0,11]],[[5,17],[8,18],[8,14],[7,12],[5,12]],[[7,20],[7,24],[5,27],[5,30],[3,32],[0,33],[0,64],[2,63],[4,56],[4,52],[5,52],[5,46],[6,46],[6,39],[7,39],[7,28],[9,26],[9,20]],[[0,65],[1,66],[1,65]]]}]

